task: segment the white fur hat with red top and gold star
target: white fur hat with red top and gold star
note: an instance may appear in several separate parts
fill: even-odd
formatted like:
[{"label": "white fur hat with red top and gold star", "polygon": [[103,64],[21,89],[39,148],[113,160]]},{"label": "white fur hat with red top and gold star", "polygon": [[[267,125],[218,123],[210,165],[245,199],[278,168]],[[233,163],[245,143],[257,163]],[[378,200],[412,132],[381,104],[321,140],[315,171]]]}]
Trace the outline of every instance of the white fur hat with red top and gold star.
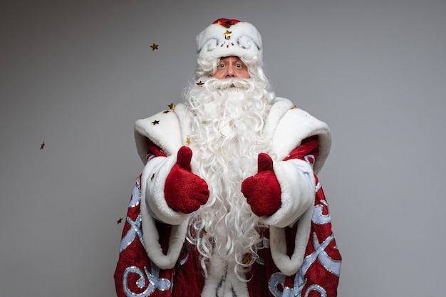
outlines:
[{"label": "white fur hat with red top and gold star", "polygon": [[[197,58],[237,56],[261,63],[261,36],[252,24],[237,20],[219,19],[197,36]],[[235,23],[235,24],[234,24]]]}]

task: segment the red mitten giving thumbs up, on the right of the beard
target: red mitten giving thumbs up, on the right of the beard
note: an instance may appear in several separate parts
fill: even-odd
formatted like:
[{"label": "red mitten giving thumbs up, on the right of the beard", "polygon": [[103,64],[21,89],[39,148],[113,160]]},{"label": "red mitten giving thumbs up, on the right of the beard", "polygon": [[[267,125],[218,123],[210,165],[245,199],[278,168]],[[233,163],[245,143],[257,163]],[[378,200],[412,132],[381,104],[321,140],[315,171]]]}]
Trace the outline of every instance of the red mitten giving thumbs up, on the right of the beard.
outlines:
[{"label": "red mitten giving thumbs up, on the right of the beard", "polygon": [[258,173],[242,182],[242,193],[256,216],[269,216],[280,208],[280,185],[268,154],[259,154],[257,167]]}]

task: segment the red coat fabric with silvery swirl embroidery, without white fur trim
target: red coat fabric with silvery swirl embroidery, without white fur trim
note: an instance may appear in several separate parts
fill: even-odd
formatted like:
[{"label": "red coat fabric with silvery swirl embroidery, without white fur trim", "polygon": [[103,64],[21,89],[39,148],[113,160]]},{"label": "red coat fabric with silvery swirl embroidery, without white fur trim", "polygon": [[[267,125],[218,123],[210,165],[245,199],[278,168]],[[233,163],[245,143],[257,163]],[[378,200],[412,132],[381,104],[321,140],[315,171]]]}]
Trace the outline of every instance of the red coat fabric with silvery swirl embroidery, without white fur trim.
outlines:
[{"label": "red coat fabric with silvery swirl embroidery, without white fur trim", "polygon": [[[315,165],[318,158],[322,160],[328,155],[321,150],[321,140],[323,137],[318,134],[306,137],[289,155],[284,157],[283,161],[299,159],[308,162],[311,166]],[[149,157],[150,155],[165,156],[153,142],[150,141],[148,144],[145,152],[148,150]],[[337,296],[341,254],[336,247],[331,230],[331,218],[328,214],[325,194],[316,174],[314,178],[316,191],[311,214],[310,236],[299,271],[291,276],[286,276],[281,272],[271,254],[270,241],[270,238],[277,238],[276,235],[272,236],[271,231],[278,232],[279,230],[279,234],[282,234],[281,236],[286,241],[286,254],[291,257],[295,249],[294,239],[297,226],[286,226],[281,229],[264,228],[262,230],[263,246],[258,249],[259,259],[251,266],[251,271],[247,274],[249,296]],[[115,269],[114,277],[118,296],[201,296],[206,278],[200,266],[200,255],[193,236],[185,234],[180,256],[172,268],[160,269],[154,263],[156,259],[150,259],[147,256],[147,249],[150,248],[143,239],[145,230],[142,230],[140,209],[140,197],[143,194],[141,186],[140,176],[130,198],[118,264]],[[176,232],[175,227],[157,220],[153,222],[157,231],[154,236],[159,236],[158,242],[162,252],[166,254],[170,248],[170,235]],[[189,231],[193,232],[193,229],[190,228]]]}]

